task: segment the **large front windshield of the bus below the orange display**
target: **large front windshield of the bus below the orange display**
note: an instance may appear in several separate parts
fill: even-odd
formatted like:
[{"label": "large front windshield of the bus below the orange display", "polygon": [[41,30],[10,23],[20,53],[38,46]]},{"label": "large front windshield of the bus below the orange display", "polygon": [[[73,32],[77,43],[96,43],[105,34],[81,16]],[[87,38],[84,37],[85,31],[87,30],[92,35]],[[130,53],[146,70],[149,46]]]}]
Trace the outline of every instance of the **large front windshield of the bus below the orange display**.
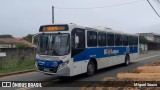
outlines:
[{"label": "large front windshield of the bus below the orange display", "polygon": [[41,55],[62,56],[69,53],[69,34],[53,33],[38,35],[38,50]]}]

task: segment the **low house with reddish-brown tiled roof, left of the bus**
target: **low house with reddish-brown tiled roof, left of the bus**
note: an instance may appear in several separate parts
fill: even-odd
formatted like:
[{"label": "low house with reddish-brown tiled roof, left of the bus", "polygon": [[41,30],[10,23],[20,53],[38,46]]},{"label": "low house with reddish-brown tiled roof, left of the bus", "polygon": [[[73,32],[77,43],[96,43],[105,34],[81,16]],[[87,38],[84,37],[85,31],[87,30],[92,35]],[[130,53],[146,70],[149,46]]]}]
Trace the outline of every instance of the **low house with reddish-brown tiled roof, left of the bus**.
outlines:
[{"label": "low house with reddish-brown tiled roof, left of the bus", "polygon": [[0,38],[0,48],[16,48],[16,44],[27,44],[29,47],[36,47],[36,45],[23,38]]}]

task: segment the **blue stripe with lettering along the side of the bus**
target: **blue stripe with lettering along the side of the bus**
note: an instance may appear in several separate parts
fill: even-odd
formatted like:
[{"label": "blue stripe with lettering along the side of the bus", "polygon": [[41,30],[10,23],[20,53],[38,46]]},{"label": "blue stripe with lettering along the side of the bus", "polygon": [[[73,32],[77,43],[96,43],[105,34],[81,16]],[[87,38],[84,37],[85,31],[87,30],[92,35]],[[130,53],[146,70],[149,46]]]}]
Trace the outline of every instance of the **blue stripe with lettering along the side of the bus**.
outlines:
[{"label": "blue stripe with lettering along the side of the bus", "polygon": [[[138,53],[138,46],[130,46],[129,48],[127,47],[86,48],[83,52],[73,56],[73,61],[76,62],[82,60],[89,60],[92,57],[102,58],[109,56],[125,55],[128,49],[129,49],[129,54]],[[108,53],[109,50],[112,50],[113,53]]]}]

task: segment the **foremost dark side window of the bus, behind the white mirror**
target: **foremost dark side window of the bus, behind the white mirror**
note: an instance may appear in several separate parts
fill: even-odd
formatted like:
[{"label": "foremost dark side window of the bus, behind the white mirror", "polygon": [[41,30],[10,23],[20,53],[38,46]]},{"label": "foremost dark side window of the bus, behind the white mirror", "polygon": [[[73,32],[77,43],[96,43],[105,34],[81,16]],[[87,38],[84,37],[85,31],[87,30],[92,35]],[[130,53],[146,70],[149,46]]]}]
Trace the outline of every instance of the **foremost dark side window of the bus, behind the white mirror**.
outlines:
[{"label": "foremost dark side window of the bus, behind the white mirror", "polygon": [[[83,49],[85,48],[85,30],[84,29],[80,29],[80,28],[76,28],[72,30],[72,48],[79,48],[79,49]],[[75,36],[79,37],[79,43],[78,45],[75,45]]]}]

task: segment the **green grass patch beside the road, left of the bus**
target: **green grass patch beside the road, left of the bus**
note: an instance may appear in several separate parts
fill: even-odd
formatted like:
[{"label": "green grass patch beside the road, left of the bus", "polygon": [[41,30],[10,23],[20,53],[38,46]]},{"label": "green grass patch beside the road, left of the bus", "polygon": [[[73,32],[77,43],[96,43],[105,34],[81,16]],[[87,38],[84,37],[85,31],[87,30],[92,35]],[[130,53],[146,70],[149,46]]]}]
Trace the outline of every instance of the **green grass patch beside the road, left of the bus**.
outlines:
[{"label": "green grass patch beside the road, left of the bus", "polygon": [[21,61],[21,63],[19,63],[19,61],[19,59],[4,59],[2,62],[2,69],[0,70],[0,74],[34,69],[34,59],[25,58],[23,61]]}]

